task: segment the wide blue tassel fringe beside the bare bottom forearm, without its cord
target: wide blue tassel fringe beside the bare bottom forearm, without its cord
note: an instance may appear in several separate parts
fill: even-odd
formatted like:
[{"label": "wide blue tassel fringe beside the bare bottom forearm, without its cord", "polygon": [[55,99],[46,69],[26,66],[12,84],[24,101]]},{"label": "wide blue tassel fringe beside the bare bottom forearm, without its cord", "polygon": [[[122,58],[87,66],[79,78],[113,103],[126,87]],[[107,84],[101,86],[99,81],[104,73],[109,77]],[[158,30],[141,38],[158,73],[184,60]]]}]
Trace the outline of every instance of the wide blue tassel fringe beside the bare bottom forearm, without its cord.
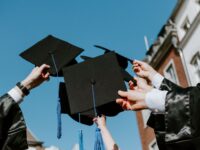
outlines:
[{"label": "wide blue tassel fringe beside the bare bottom forearm, without its cord", "polygon": [[105,150],[100,131],[99,128],[96,128],[94,150]]}]

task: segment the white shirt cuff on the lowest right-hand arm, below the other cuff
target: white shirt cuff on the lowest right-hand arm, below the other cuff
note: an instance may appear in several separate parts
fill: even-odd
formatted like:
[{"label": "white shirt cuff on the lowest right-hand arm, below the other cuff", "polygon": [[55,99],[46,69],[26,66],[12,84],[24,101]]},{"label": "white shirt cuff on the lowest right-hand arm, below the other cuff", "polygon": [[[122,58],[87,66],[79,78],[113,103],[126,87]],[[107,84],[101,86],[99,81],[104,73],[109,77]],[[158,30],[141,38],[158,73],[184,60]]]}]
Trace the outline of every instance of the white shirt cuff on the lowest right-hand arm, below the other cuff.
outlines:
[{"label": "white shirt cuff on the lowest right-hand arm, below the other cuff", "polygon": [[165,98],[167,91],[153,89],[146,94],[145,102],[153,112],[165,112]]}]

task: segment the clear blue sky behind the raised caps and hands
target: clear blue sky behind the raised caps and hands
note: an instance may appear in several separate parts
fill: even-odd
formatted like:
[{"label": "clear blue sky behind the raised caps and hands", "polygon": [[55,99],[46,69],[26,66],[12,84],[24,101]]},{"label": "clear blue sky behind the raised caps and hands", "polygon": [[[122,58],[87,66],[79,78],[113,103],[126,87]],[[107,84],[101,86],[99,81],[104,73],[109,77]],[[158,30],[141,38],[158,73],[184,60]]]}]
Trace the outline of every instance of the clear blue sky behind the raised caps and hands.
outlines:
[{"label": "clear blue sky behind the raised caps and hands", "polygon": [[[99,44],[131,59],[143,59],[144,35],[152,43],[175,4],[176,0],[0,0],[0,94],[33,68],[19,53],[48,34],[84,48],[84,55],[102,54],[93,47]],[[67,115],[62,116],[63,137],[56,139],[57,87],[51,78],[25,98],[21,108],[28,127],[45,146],[61,150],[70,150],[82,129],[85,149],[92,150],[95,126],[81,125]],[[122,150],[141,150],[134,112],[108,118],[107,126]]]}]

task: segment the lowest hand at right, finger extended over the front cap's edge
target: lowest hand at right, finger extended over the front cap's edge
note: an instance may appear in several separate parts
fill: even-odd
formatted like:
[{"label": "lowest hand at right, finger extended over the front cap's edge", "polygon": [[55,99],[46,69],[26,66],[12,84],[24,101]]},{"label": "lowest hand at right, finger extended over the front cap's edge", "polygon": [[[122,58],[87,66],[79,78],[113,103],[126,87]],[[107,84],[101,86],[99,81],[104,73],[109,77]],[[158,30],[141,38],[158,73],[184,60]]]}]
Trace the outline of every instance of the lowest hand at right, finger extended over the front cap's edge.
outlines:
[{"label": "lowest hand at right, finger extended over the front cap's edge", "polygon": [[124,110],[142,110],[147,109],[145,102],[146,92],[140,89],[129,90],[129,91],[118,91],[118,94],[122,98],[116,99]]}]

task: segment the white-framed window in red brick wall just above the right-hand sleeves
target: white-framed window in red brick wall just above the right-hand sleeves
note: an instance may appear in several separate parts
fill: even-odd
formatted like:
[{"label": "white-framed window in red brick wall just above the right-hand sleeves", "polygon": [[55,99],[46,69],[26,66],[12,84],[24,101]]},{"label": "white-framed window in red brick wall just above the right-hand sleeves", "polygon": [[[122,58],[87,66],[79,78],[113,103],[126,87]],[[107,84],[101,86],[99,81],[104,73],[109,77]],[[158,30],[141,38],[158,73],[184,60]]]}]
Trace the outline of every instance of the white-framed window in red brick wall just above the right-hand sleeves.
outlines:
[{"label": "white-framed window in red brick wall just above the right-hand sleeves", "polygon": [[179,84],[174,62],[171,60],[164,70],[164,76],[170,81]]}]

